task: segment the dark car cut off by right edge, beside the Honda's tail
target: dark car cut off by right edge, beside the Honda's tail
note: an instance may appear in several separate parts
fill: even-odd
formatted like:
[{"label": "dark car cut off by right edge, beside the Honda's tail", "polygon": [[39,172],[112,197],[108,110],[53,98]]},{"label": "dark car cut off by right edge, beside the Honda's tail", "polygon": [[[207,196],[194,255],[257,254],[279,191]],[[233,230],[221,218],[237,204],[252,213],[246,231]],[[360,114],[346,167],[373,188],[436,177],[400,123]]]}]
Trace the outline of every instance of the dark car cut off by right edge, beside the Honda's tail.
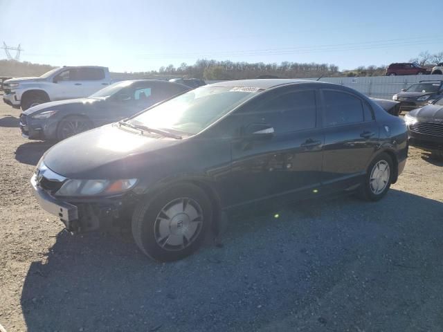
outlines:
[{"label": "dark car cut off by right edge, beside the Honda's tail", "polygon": [[410,145],[443,159],[443,97],[404,116]]}]

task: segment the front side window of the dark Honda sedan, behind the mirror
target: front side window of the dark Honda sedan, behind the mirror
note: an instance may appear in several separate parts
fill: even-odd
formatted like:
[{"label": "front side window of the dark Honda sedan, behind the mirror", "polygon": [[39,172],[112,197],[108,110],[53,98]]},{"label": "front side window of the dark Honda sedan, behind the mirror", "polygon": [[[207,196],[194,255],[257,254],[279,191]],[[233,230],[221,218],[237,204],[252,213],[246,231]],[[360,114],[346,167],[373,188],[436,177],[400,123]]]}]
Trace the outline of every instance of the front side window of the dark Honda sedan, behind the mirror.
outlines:
[{"label": "front side window of the dark Honda sedan, behind the mirror", "polygon": [[246,124],[270,124],[277,134],[315,128],[315,91],[296,91],[280,95],[252,111],[245,120]]}]

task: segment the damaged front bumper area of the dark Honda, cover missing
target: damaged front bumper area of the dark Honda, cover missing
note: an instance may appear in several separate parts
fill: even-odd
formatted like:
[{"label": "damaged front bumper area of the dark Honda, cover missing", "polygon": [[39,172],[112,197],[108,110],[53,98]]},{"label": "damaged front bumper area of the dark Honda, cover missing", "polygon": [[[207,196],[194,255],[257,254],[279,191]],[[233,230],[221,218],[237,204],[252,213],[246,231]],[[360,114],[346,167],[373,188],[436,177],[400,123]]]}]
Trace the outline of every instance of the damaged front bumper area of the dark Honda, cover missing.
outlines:
[{"label": "damaged front bumper area of the dark Honda, cover missing", "polygon": [[42,189],[34,174],[30,180],[34,196],[46,212],[60,218],[66,230],[75,233],[128,228],[132,212],[138,202],[134,194],[90,199],[69,199],[69,202],[55,198]]}]

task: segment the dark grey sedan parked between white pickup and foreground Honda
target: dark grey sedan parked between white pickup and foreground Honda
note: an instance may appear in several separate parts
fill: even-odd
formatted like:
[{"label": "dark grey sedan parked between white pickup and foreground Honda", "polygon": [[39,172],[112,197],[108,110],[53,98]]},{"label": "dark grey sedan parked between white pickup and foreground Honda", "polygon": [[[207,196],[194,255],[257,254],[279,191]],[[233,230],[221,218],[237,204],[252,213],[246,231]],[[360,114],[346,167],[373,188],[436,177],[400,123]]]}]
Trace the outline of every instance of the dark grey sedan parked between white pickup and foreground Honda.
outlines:
[{"label": "dark grey sedan parked between white pickup and foreground Honda", "polygon": [[64,140],[102,124],[116,122],[188,91],[183,84],[129,80],[111,84],[88,98],[46,102],[20,116],[23,136],[31,140]]}]

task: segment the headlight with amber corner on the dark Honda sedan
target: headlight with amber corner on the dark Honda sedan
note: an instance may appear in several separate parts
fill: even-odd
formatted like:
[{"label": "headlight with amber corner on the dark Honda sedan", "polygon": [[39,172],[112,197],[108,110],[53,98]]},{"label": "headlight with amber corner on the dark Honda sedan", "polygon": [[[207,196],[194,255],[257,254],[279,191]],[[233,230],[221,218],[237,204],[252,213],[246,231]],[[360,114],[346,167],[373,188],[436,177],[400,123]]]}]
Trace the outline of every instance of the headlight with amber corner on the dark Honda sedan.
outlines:
[{"label": "headlight with amber corner on the dark Honda sedan", "polygon": [[120,194],[134,187],[136,178],[124,180],[75,180],[66,181],[55,193],[60,196],[93,196],[100,194]]}]

